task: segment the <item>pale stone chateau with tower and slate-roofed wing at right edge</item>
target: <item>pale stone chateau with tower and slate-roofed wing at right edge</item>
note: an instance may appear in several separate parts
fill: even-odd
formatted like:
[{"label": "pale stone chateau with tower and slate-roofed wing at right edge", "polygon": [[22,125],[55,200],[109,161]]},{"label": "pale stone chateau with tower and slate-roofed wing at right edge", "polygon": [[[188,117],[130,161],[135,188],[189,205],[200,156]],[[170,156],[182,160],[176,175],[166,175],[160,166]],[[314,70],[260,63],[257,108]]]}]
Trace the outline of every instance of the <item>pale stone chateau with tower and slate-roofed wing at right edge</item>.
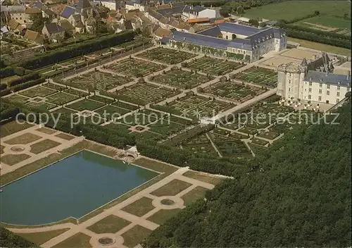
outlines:
[{"label": "pale stone chateau with tower and slate-roofed wing at right edge", "polygon": [[284,99],[301,99],[337,104],[351,91],[351,76],[333,73],[327,54],[315,61],[303,58],[301,64],[286,63],[277,68],[277,94]]}]

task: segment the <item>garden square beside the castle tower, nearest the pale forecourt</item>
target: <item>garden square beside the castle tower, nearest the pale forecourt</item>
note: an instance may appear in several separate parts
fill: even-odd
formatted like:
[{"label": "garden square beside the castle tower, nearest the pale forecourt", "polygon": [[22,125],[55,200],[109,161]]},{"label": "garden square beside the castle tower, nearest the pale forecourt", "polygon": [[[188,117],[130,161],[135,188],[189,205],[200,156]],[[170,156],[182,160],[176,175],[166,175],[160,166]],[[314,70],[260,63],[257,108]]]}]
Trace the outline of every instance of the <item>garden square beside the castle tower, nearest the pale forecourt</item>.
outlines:
[{"label": "garden square beside the castle tower, nearest the pale forecourt", "polygon": [[234,79],[253,82],[265,87],[276,87],[277,85],[277,73],[274,70],[255,66],[235,74]]}]

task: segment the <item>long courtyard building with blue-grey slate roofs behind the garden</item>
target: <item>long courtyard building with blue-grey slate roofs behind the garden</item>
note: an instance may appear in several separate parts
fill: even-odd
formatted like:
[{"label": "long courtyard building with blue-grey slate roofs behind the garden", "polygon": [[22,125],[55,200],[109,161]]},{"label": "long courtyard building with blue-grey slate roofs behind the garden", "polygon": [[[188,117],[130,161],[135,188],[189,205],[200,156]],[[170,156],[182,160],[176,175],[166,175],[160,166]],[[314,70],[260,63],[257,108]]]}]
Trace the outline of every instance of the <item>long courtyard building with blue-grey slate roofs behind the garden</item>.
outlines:
[{"label": "long courtyard building with blue-grey slate roofs behind the garden", "polygon": [[174,30],[162,44],[213,56],[234,58],[248,63],[258,61],[270,51],[287,47],[284,30],[275,27],[250,27],[236,23],[219,23],[197,33]]}]

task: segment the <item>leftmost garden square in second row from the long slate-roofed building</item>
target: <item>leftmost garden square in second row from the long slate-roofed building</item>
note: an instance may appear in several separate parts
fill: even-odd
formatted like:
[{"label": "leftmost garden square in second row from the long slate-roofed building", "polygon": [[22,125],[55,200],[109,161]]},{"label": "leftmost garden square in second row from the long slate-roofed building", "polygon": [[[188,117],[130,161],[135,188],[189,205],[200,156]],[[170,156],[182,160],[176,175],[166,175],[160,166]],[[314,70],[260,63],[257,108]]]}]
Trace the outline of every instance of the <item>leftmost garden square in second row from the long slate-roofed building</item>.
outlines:
[{"label": "leftmost garden square in second row from the long slate-roofed building", "polygon": [[163,70],[165,66],[136,58],[127,58],[105,68],[127,76],[144,77],[158,70]]}]

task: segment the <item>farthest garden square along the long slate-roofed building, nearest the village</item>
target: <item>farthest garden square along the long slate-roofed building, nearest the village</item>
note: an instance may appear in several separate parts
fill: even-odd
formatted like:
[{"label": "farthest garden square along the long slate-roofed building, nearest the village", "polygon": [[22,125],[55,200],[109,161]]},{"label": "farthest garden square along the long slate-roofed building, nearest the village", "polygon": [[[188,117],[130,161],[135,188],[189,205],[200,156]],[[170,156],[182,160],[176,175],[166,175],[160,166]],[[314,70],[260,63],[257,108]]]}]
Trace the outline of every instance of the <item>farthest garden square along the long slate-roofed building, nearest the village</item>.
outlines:
[{"label": "farthest garden square along the long slate-roofed building, nearest the village", "polygon": [[186,51],[177,51],[174,49],[158,47],[144,51],[142,54],[138,54],[137,56],[140,58],[147,58],[152,61],[175,65],[176,63],[181,63],[182,61],[185,61],[189,58],[194,58],[196,54],[187,53]]}]

